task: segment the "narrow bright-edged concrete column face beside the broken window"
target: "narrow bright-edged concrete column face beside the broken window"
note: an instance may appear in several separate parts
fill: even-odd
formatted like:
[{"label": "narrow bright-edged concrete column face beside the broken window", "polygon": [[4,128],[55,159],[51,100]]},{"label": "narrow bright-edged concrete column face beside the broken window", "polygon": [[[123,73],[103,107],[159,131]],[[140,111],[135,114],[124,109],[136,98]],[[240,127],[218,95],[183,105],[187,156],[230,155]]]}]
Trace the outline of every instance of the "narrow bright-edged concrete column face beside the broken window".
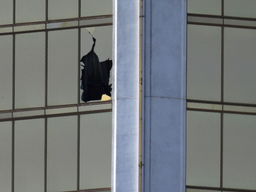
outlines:
[{"label": "narrow bright-edged concrete column face beside the broken window", "polygon": [[137,192],[140,1],[114,0],[113,3],[112,191]]}]

